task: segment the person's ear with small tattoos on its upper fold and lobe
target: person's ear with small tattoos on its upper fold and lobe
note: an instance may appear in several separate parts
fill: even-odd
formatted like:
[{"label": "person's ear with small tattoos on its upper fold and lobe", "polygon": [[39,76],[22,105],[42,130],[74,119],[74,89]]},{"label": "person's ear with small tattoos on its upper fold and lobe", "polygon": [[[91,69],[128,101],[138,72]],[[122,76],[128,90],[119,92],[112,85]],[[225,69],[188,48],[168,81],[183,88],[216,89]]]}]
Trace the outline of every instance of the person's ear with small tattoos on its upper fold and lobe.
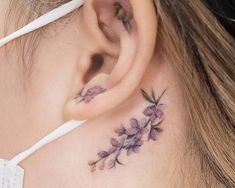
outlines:
[{"label": "person's ear with small tattoos on its upper fold and lobe", "polygon": [[[157,16],[152,0],[87,0],[81,30],[89,40],[81,55],[83,79],[93,63],[111,71],[90,75],[65,105],[67,119],[90,119],[126,100],[139,86],[154,53]],[[92,57],[92,58],[91,58]],[[81,88],[83,88],[81,90]]]}]

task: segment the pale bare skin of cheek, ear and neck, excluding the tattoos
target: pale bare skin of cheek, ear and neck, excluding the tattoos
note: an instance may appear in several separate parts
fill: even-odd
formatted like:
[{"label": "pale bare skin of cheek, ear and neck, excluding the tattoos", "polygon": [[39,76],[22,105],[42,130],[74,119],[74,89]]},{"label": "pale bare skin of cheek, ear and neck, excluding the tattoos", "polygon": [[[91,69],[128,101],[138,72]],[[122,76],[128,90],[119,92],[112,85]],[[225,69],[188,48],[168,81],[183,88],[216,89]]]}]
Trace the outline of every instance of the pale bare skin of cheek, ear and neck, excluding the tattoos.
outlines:
[{"label": "pale bare skin of cheek, ear and neck, excluding the tattoos", "polygon": [[[0,9],[6,10],[7,3],[1,1]],[[196,174],[197,164],[184,156],[187,118],[180,83],[171,62],[154,50],[154,6],[150,0],[130,1],[135,19],[129,33],[111,16],[111,4],[87,0],[66,27],[61,23],[48,27],[52,37],[40,42],[27,92],[22,87],[16,52],[11,52],[7,62],[5,50],[0,48],[1,158],[10,159],[66,120],[89,119],[21,163],[26,170],[25,188],[193,187],[183,176],[191,170]],[[2,38],[3,15],[0,19]],[[97,27],[97,19],[108,30]],[[55,35],[55,31],[59,32]],[[104,66],[83,82],[90,57],[100,52],[104,54]],[[107,91],[88,104],[74,100],[83,87],[97,84]],[[140,154],[124,156],[125,167],[91,173],[88,161],[109,146],[114,130],[121,123],[128,124],[131,117],[141,117],[146,101],[140,88],[153,88],[158,95],[167,88],[162,98],[167,106],[163,132],[156,142],[145,144]]]}]

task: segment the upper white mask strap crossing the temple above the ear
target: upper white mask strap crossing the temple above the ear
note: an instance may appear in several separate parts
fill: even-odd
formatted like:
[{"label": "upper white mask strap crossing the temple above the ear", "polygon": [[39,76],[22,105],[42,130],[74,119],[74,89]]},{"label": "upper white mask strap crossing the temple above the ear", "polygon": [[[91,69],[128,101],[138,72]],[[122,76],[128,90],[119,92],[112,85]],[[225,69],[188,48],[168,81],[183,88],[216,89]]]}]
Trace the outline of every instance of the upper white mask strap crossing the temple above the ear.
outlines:
[{"label": "upper white mask strap crossing the temple above the ear", "polygon": [[36,20],[30,22],[20,30],[12,33],[11,35],[0,40],[0,47],[7,44],[8,42],[23,36],[31,31],[34,31],[38,28],[41,28],[53,21],[58,20],[59,18],[65,16],[66,14],[74,11],[84,4],[84,0],[72,0],[62,6],[53,9],[52,11],[40,16]]}]

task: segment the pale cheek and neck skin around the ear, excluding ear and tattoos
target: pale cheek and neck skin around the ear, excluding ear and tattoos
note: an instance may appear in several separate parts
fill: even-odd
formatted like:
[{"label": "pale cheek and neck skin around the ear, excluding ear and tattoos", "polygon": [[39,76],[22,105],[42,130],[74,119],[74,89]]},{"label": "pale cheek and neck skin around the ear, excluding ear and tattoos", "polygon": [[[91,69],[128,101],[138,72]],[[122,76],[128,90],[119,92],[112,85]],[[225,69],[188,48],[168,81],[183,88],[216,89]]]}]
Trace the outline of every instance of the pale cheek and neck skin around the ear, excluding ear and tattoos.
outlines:
[{"label": "pale cheek and neck skin around the ear, excluding ear and tattoos", "polygon": [[[76,21],[75,18],[71,20]],[[16,52],[12,52],[7,61],[4,48],[0,49],[0,158],[10,159],[64,122],[63,107],[77,63],[77,46],[71,45],[74,44],[72,36],[75,36],[76,31],[70,29],[65,28],[61,34],[41,41],[27,92],[23,90],[22,73],[15,63]],[[64,43],[58,45],[58,41]],[[47,46],[47,49],[43,46]],[[60,49],[64,49],[63,54],[58,53]],[[122,157],[125,166],[91,173],[87,165],[88,161],[97,159],[98,151],[110,147],[110,138],[116,136],[114,130],[120,124],[129,127],[132,117],[141,119],[148,103],[138,89],[119,107],[88,121],[80,129],[24,161],[21,165],[28,172],[26,187],[60,187],[69,180],[77,182],[76,186],[79,187],[99,188],[104,184],[107,187],[126,187],[128,184],[130,188],[193,187],[187,181],[191,171],[196,174],[196,170],[192,170],[196,164],[190,164],[185,156],[185,107],[179,82],[170,62],[154,57],[139,88],[146,91],[153,88],[157,96],[167,88],[161,100],[166,105],[165,120],[161,125],[163,132],[157,141],[144,143],[138,154]],[[6,147],[7,145],[11,147]],[[52,160],[54,165],[51,164]],[[37,165],[39,161],[40,166]],[[66,175],[62,176],[58,171]],[[51,184],[46,180],[43,185],[42,182],[37,182],[40,177],[45,177],[45,172],[54,174],[58,181]],[[71,179],[71,173],[77,176]],[[81,178],[83,181],[80,181]],[[57,182],[60,184],[57,185]],[[91,182],[95,182],[95,185]],[[71,185],[73,186],[76,187]]]}]

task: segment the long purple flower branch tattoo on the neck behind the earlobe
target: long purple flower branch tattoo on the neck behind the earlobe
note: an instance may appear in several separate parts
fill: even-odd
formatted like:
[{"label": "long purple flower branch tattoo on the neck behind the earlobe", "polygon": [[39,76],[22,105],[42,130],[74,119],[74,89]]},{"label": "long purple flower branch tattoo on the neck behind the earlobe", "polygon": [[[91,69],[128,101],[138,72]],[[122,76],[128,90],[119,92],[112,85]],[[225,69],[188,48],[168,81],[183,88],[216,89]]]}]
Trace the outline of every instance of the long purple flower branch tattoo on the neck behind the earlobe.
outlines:
[{"label": "long purple flower branch tattoo on the neck behind the earlobe", "polygon": [[143,111],[144,117],[141,120],[131,118],[130,128],[121,125],[120,128],[115,130],[117,137],[111,138],[111,147],[106,151],[98,152],[99,159],[88,163],[91,172],[95,172],[98,165],[100,170],[124,165],[119,159],[121,154],[125,152],[129,156],[133,153],[139,153],[140,147],[144,144],[145,137],[147,141],[156,141],[159,133],[163,131],[160,125],[164,120],[164,105],[160,103],[160,99],[166,90],[157,99],[153,90],[151,95],[142,89],[141,92],[144,99],[149,103]]}]

